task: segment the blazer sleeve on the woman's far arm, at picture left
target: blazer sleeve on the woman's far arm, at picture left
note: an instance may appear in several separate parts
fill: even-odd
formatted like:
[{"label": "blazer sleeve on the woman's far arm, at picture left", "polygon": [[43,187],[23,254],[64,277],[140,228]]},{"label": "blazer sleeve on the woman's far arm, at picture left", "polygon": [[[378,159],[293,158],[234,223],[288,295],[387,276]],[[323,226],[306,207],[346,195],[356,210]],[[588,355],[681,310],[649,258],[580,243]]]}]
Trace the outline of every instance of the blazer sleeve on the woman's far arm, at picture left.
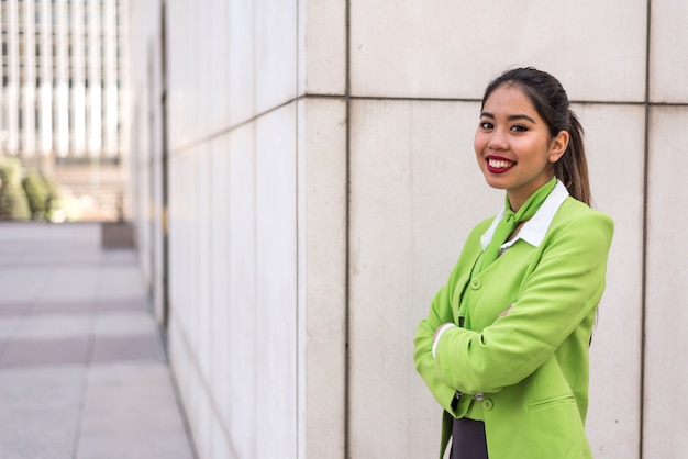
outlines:
[{"label": "blazer sleeve on the woman's far arm, at picture left", "polygon": [[452,402],[454,401],[456,389],[443,381],[435,371],[435,359],[432,356],[433,335],[440,325],[454,322],[452,298],[454,296],[456,284],[466,269],[467,260],[475,258],[475,254],[471,254],[471,248],[479,247],[480,235],[487,229],[490,221],[491,219],[476,226],[468,236],[458,262],[452,270],[446,284],[440,289],[432,300],[430,313],[428,317],[420,322],[413,338],[415,369],[425,381],[437,403],[450,413],[454,413]]}]

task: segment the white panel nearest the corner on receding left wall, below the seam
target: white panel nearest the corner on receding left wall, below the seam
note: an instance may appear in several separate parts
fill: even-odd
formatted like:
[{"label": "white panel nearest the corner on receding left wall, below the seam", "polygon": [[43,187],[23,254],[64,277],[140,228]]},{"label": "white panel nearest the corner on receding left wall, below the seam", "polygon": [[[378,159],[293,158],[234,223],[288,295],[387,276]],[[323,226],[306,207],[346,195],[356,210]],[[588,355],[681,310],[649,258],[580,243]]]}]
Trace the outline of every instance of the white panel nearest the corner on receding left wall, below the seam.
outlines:
[{"label": "white panel nearest the corner on receding left wall, below the seam", "polygon": [[[296,103],[256,121],[256,457],[297,448]],[[262,438],[271,441],[260,441]],[[279,452],[275,447],[279,445]]]}]

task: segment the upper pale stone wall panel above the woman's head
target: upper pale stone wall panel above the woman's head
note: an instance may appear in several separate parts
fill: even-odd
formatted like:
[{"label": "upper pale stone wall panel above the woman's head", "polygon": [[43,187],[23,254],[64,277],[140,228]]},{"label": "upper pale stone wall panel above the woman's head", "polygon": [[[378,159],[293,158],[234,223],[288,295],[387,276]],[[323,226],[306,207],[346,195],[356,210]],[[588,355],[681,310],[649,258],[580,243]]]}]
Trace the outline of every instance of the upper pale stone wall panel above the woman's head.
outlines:
[{"label": "upper pale stone wall panel above the woman's head", "polygon": [[[479,98],[507,68],[532,65],[572,99],[641,101],[646,3],[499,0],[351,2],[352,93]],[[670,35],[669,35],[670,36]]]}]

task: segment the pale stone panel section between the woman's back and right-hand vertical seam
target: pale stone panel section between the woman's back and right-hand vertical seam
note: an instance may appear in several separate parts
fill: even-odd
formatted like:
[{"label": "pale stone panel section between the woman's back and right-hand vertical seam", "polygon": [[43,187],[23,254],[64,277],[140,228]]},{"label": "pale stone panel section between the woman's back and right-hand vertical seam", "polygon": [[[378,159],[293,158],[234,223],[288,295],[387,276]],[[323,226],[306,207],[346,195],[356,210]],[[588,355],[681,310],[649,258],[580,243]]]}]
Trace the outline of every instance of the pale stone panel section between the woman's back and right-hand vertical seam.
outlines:
[{"label": "pale stone panel section between the woman's back and right-hand vertical seam", "polygon": [[590,104],[574,109],[586,130],[592,206],[614,221],[607,290],[590,347],[586,427],[596,458],[634,458],[641,410],[645,113],[640,105]]}]

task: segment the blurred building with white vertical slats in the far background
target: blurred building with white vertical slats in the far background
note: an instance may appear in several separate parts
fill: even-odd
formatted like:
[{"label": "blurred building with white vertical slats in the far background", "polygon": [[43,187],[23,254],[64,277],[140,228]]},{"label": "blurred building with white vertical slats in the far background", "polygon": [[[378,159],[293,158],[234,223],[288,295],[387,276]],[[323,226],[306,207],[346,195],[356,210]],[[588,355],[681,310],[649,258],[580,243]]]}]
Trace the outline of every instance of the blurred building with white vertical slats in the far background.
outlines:
[{"label": "blurred building with white vertical slats in the far background", "polygon": [[[122,0],[2,0],[0,153],[18,156],[109,219],[129,173]],[[85,200],[89,200],[86,202]]]}]

